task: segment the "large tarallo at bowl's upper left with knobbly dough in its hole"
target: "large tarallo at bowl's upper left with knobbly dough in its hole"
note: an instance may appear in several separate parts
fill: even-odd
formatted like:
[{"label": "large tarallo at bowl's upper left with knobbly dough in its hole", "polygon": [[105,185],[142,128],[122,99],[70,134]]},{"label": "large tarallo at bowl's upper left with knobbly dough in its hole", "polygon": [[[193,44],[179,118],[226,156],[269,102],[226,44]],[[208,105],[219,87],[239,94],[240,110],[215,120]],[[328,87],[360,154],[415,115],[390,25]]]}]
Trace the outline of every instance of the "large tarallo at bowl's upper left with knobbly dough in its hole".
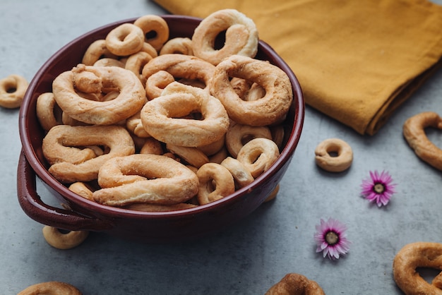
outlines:
[{"label": "large tarallo at bowl's upper left with knobbly dough in its hole", "polygon": [[[88,79],[78,77],[87,76]],[[82,88],[101,91],[117,88],[114,100],[97,102],[80,97],[74,85],[83,81]],[[71,71],[57,76],[52,83],[54,97],[59,107],[73,119],[87,124],[111,125],[136,114],[146,101],[145,90],[138,77],[129,70],[117,66],[84,66],[79,64]]]}]

